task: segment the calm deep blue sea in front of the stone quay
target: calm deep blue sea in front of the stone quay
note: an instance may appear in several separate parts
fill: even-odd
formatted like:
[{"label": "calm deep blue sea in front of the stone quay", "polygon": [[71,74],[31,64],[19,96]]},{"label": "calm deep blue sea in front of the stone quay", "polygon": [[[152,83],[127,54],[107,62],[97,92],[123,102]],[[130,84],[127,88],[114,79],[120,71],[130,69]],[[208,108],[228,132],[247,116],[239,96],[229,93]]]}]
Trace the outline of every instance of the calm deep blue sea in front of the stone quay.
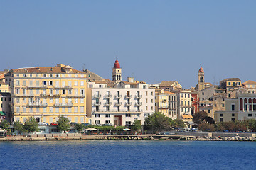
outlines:
[{"label": "calm deep blue sea in front of the stone quay", "polygon": [[256,169],[256,142],[0,142],[0,169]]}]

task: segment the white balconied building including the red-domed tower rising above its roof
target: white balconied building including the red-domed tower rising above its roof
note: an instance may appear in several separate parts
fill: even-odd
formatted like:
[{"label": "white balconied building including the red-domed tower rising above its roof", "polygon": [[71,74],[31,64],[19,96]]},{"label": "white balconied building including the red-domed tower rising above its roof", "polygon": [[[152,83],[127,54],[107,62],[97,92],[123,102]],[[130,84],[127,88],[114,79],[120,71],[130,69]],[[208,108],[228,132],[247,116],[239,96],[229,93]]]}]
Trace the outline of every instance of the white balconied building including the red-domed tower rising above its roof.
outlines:
[{"label": "white balconied building including the red-domed tower rising above its roof", "polygon": [[154,113],[155,91],[142,81],[129,77],[122,81],[122,68],[118,60],[112,68],[112,81],[88,82],[87,115],[91,123],[132,125],[134,120],[141,120]]}]

